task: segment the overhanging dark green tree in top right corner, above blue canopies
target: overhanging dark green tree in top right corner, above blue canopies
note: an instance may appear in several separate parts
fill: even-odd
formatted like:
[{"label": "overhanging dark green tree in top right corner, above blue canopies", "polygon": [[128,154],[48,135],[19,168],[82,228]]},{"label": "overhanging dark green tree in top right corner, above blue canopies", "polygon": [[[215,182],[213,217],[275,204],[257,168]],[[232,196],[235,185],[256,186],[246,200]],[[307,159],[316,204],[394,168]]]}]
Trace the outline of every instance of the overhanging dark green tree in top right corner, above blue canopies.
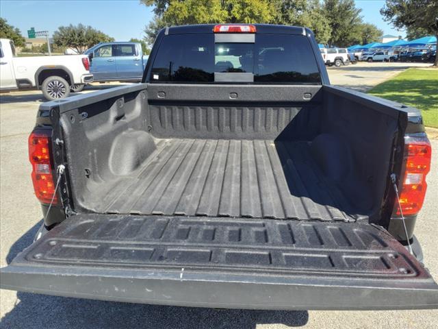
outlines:
[{"label": "overhanging dark green tree in top right corner, above blue canopies", "polygon": [[[394,27],[415,31],[423,29],[426,34],[437,37],[438,46],[438,1],[437,0],[386,0],[381,14]],[[438,56],[433,66],[438,66]]]}]

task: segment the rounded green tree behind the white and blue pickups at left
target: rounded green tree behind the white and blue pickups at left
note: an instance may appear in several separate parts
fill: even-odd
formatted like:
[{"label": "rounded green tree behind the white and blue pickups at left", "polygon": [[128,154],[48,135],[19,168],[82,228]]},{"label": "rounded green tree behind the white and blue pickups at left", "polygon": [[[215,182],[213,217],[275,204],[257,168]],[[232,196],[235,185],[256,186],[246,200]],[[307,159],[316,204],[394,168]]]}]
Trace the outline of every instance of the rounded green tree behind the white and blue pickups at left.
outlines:
[{"label": "rounded green tree behind the white and blue pickups at left", "polygon": [[114,38],[107,36],[98,29],[91,26],[79,24],[60,26],[55,33],[53,33],[53,42],[58,47],[70,47],[83,53],[86,49],[96,45],[99,42],[114,41]]}]

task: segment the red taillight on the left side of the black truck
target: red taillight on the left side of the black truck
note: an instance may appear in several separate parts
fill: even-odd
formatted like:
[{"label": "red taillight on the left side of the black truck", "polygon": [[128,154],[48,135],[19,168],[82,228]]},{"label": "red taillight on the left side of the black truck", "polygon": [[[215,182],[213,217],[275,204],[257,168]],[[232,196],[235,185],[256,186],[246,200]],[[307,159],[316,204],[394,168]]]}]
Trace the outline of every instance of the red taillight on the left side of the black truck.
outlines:
[{"label": "red taillight on the left side of the black truck", "polygon": [[[29,136],[29,160],[32,164],[32,182],[35,195],[42,204],[50,204],[55,193],[53,168],[50,160],[51,131],[34,131]],[[57,203],[57,196],[53,204]]]}]

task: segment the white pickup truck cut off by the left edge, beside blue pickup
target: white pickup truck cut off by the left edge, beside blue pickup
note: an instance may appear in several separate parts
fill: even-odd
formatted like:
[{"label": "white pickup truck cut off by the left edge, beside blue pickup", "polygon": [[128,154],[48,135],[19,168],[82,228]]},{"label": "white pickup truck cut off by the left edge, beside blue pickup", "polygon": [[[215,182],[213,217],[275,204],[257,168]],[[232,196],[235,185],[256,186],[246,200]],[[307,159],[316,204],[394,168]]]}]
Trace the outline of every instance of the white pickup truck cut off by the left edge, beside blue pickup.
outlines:
[{"label": "white pickup truck cut off by the left edge, beside blue pickup", "polygon": [[0,39],[0,90],[38,88],[49,100],[68,97],[93,81],[85,55],[16,57],[14,42]]}]

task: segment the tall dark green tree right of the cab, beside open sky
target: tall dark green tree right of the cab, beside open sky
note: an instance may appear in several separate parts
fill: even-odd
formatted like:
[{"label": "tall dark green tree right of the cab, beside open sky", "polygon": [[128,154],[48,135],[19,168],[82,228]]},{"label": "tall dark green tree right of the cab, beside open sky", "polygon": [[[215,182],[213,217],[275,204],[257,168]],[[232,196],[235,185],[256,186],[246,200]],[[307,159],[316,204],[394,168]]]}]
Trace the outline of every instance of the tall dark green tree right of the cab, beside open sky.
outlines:
[{"label": "tall dark green tree right of the cab, beside open sky", "polygon": [[353,0],[324,0],[324,16],[331,27],[330,46],[347,47],[359,40],[360,13]]}]

